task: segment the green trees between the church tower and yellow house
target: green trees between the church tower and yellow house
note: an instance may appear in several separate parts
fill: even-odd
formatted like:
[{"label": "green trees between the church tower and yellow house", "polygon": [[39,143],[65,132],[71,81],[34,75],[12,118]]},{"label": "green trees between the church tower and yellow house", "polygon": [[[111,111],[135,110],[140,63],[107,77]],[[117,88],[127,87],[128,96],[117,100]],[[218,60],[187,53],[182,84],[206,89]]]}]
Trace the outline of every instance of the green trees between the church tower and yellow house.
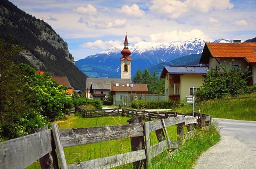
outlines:
[{"label": "green trees between the church tower and yellow house", "polygon": [[147,68],[144,70],[144,72],[142,72],[142,70],[139,68],[133,77],[133,82],[147,84],[147,93],[164,93],[165,81],[157,76],[156,70],[153,74],[151,74]]}]

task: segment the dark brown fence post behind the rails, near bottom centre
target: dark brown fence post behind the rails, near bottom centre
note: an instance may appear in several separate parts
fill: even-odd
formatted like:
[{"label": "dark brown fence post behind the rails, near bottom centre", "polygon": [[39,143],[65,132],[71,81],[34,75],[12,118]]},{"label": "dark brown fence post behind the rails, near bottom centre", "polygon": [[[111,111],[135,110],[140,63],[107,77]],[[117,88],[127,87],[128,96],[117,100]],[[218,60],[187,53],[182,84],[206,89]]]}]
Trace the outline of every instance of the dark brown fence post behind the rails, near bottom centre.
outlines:
[{"label": "dark brown fence post behind the rails, near bottom centre", "polygon": [[[139,116],[131,118],[131,119],[127,120],[127,122],[129,122],[129,124],[142,122],[143,115],[144,114],[141,114]],[[132,145],[132,151],[145,149],[144,136],[131,137],[131,145]],[[145,159],[133,162],[133,164],[134,164],[134,168],[146,168],[146,160]]]}]

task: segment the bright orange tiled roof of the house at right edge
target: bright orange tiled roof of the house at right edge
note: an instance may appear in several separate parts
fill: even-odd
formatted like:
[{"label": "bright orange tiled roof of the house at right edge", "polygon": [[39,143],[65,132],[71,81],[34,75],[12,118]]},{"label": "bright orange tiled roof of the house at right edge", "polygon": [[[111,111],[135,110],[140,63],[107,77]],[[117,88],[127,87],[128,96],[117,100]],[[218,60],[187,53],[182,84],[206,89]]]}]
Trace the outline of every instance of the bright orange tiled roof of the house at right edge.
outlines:
[{"label": "bright orange tiled roof of the house at right edge", "polygon": [[[199,63],[208,63],[211,57],[244,58],[248,62],[256,62],[256,43],[205,43]],[[204,57],[204,58],[203,58]],[[208,57],[208,59],[207,59]]]}]

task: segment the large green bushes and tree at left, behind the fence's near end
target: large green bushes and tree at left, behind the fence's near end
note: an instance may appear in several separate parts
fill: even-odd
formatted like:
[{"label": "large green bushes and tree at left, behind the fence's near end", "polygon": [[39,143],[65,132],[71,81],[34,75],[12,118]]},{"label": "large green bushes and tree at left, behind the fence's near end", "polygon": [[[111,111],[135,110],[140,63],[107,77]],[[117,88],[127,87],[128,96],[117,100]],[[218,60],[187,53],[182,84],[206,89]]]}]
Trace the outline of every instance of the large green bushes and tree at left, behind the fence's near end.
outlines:
[{"label": "large green bushes and tree at left, behind the fence's near end", "polygon": [[4,139],[49,125],[49,120],[63,117],[73,106],[66,87],[57,84],[49,73],[36,74],[27,64],[16,65],[6,59],[22,50],[12,42],[12,35],[7,42],[0,40],[0,137]]}]

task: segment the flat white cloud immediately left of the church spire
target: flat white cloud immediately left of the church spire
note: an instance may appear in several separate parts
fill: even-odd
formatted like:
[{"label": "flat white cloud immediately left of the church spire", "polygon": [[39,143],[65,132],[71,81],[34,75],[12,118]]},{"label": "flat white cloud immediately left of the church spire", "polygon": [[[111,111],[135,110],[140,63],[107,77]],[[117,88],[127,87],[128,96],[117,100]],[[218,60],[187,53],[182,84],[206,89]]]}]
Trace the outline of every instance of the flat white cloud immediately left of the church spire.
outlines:
[{"label": "flat white cloud immediately left of the church spire", "polygon": [[113,47],[115,45],[121,45],[122,42],[119,41],[119,40],[115,40],[115,41],[112,41],[112,40],[109,40],[109,41],[102,41],[102,40],[96,40],[94,42],[86,42],[86,43],[83,43],[83,44],[80,44],[79,47],[83,47],[83,48],[90,48],[90,49],[108,49],[110,47]]}]

